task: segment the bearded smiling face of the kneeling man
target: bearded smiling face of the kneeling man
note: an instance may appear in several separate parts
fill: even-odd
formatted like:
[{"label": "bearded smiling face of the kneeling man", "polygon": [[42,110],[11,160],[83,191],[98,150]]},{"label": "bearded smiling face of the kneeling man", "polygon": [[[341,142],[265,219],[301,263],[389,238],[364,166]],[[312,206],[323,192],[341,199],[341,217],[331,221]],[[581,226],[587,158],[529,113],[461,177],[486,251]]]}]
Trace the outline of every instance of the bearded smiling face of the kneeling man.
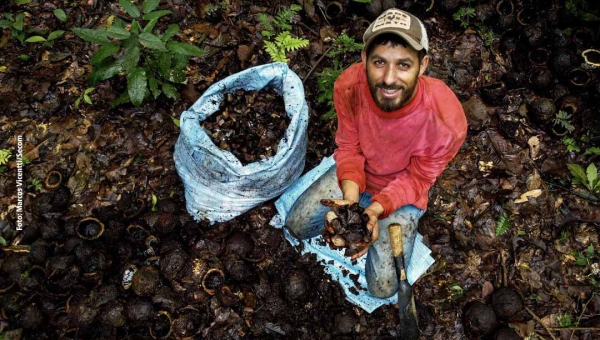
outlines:
[{"label": "bearded smiling face of the kneeling man", "polygon": [[398,110],[415,96],[417,78],[429,63],[425,56],[419,64],[418,52],[411,46],[392,46],[389,42],[374,46],[369,56],[363,51],[362,59],[371,95],[386,112]]}]

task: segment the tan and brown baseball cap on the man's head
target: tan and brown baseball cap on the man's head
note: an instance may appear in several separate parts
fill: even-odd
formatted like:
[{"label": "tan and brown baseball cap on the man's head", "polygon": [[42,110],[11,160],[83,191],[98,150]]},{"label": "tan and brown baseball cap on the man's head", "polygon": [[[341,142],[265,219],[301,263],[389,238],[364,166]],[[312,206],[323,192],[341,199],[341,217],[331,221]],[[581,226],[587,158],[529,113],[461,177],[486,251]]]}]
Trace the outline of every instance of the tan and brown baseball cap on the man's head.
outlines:
[{"label": "tan and brown baseball cap on the man's head", "polygon": [[421,20],[414,15],[399,10],[390,8],[381,13],[375,21],[369,25],[369,28],[363,35],[363,43],[365,51],[368,50],[369,44],[373,38],[384,33],[393,33],[401,36],[415,50],[429,49],[429,41],[427,40],[427,31]]}]

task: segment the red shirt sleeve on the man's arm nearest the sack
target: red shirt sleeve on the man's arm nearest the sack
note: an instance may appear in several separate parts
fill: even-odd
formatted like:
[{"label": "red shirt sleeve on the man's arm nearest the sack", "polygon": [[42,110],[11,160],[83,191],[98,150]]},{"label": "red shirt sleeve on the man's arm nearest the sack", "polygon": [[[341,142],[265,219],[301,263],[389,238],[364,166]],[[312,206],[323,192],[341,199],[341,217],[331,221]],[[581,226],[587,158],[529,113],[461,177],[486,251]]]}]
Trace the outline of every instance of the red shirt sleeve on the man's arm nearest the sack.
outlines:
[{"label": "red shirt sleeve on the man's arm nearest the sack", "polygon": [[338,185],[342,180],[351,180],[358,184],[360,192],[366,189],[365,156],[360,148],[355,101],[351,85],[336,82],[333,89],[333,103],[337,113],[338,126],[335,134],[337,148],[333,153],[336,163]]}]

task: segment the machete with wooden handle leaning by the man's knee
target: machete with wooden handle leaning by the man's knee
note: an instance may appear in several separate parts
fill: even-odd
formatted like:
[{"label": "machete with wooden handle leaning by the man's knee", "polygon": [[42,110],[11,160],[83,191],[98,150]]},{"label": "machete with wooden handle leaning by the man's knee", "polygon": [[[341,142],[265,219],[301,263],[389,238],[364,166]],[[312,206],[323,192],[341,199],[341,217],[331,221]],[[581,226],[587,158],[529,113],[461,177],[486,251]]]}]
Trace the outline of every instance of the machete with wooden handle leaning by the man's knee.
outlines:
[{"label": "machete with wooden handle leaning by the man's knee", "polygon": [[392,223],[390,228],[390,241],[392,253],[396,264],[396,277],[398,279],[398,310],[400,312],[400,339],[418,340],[419,326],[414,308],[412,287],[406,279],[406,268],[404,265],[404,251],[402,245],[402,226]]}]

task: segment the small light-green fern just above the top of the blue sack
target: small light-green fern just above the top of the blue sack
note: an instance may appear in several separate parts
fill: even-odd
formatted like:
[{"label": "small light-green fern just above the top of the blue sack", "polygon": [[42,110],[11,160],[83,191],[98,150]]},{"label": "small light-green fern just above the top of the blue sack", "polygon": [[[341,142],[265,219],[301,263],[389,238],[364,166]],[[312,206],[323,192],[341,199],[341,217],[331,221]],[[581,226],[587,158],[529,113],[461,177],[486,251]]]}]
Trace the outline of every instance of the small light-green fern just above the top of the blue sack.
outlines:
[{"label": "small light-green fern just above the top of the blue sack", "polygon": [[273,61],[287,63],[287,52],[308,46],[308,39],[296,38],[290,33],[294,15],[301,9],[301,6],[292,4],[274,17],[265,13],[259,14],[258,20],[262,26],[261,34],[266,38],[264,41],[265,51]]}]

